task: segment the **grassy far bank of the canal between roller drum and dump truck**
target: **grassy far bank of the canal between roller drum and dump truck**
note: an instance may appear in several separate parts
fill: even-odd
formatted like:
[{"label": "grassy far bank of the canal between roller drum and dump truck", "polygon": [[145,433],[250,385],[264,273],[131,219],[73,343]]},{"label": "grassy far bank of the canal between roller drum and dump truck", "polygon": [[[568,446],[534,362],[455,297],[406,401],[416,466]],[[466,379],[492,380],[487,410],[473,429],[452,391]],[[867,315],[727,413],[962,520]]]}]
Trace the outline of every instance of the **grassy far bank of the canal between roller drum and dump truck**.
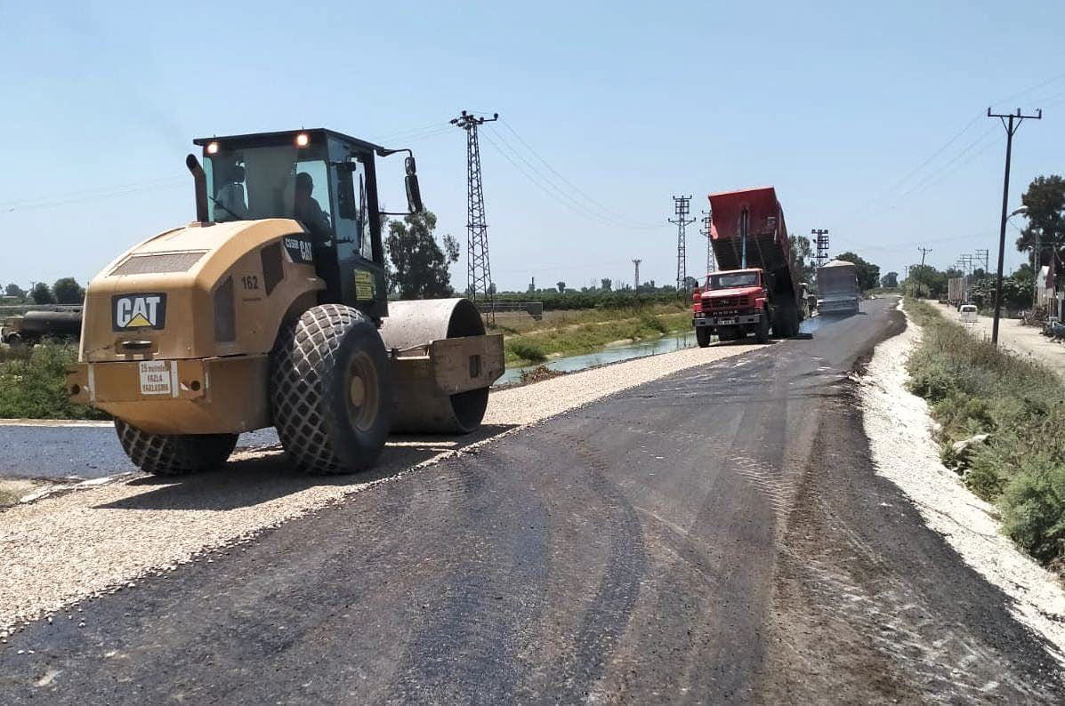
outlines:
[{"label": "grassy far bank of the canal between roller drum and dump truck", "polygon": [[556,317],[553,326],[505,334],[507,364],[540,363],[554,356],[591,352],[616,341],[656,339],[691,328],[688,311],[676,307],[654,309],[559,312],[569,316]]}]

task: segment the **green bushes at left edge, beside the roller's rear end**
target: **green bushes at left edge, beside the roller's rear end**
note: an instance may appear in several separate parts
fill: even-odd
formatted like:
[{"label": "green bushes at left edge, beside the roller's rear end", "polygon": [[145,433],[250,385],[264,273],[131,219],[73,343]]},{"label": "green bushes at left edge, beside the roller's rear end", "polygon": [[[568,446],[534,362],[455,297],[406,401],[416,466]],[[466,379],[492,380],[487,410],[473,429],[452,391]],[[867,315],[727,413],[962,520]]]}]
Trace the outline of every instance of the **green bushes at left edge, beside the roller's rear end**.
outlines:
[{"label": "green bushes at left edge, beside the roller's rear end", "polygon": [[78,348],[71,344],[0,348],[0,418],[110,418],[67,397],[66,366],[77,360]]}]

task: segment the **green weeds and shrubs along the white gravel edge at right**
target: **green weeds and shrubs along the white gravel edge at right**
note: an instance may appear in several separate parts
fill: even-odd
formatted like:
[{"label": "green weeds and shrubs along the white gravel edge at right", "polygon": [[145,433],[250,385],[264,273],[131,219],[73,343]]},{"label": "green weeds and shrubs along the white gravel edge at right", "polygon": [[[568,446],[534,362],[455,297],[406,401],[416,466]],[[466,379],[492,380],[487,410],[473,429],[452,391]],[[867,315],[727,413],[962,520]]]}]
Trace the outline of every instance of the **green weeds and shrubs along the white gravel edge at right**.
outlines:
[{"label": "green weeds and shrubs along the white gravel edge at right", "polygon": [[[994,347],[925,302],[907,299],[922,340],[907,366],[911,390],[928,400],[944,462],[995,503],[1003,532],[1065,572],[1065,387],[1049,368]],[[982,444],[955,454],[976,434]]]}]

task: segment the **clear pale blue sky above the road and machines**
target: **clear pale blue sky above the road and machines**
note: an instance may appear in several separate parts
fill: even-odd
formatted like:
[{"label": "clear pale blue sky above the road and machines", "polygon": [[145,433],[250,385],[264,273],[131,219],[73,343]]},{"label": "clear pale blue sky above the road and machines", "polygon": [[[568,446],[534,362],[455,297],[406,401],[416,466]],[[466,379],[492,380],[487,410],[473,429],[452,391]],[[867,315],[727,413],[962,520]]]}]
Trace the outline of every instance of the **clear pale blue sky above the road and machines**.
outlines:
[{"label": "clear pale blue sky above the road and machines", "polygon": [[[793,232],[883,272],[919,245],[940,267],[994,252],[1004,132],[980,116],[1046,111],[1015,139],[1011,207],[1065,171],[1065,6],[868,4],[0,0],[0,282],[84,282],[191,220],[193,137],[324,126],[414,148],[463,289],[461,109],[506,119],[481,145],[501,289],[630,281],[633,258],[672,281],[670,197],[698,213],[761,184]],[[398,165],[382,179],[399,206]],[[694,227],[688,251],[695,274]]]}]

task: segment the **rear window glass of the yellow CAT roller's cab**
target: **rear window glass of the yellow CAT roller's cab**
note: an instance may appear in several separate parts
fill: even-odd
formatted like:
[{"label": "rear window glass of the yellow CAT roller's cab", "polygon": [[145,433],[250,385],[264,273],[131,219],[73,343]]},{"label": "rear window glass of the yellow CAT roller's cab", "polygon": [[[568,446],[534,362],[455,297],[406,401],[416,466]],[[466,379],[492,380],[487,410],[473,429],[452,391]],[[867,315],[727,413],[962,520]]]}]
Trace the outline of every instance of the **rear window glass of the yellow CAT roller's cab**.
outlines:
[{"label": "rear window glass of the yellow CAT roller's cab", "polygon": [[206,157],[211,220],[295,218],[329,239],[332,203],[324,147],[294,145],[218,151]]}]

